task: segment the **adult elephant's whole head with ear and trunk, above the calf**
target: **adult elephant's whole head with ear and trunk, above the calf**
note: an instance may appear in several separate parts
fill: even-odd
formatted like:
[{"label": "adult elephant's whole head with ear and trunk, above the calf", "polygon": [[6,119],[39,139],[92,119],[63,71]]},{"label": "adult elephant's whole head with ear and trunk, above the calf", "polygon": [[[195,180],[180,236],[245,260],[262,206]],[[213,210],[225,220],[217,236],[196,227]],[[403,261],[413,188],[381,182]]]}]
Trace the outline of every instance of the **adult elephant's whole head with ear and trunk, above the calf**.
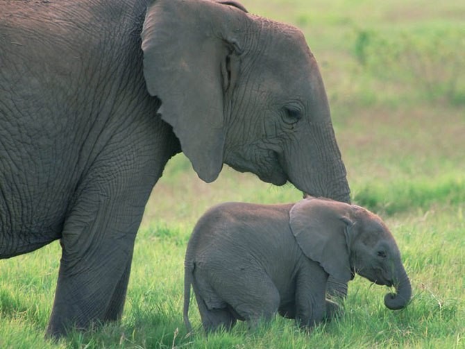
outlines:
[{"label": "adult elephant's whole head with ear and trunk, above the calf", "polygon": [[226,163],[350,200],[323,81],[298,29],[234,1],[157,0],[142,49],[149,93],[200,178],[215,180]]}]

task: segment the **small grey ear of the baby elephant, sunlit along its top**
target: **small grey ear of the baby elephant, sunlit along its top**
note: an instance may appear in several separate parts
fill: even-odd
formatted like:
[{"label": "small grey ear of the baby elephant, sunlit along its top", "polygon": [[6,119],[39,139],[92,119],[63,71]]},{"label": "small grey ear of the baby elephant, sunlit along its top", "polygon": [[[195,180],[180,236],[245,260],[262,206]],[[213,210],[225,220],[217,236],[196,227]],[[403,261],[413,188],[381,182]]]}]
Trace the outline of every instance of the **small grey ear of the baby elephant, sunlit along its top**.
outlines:
[{"label": "small grey ear of the baby elephant, sunlit along its top", "polygon": [[291,208],[291,227],[298,246],[339,282],[351,279],[347,226],[350,205],[321,199],[302,200]]}]

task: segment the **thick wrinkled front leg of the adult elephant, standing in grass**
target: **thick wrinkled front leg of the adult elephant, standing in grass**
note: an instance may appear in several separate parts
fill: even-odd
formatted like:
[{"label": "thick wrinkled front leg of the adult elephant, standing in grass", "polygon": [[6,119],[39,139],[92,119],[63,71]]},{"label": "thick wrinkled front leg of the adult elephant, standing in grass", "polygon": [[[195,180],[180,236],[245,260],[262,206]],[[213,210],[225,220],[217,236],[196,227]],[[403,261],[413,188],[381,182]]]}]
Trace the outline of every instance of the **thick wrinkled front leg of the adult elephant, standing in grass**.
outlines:
[{"label": "thick wrinkled front leg of the adult elephant, standing in grass", "polygon": [[135,235],[153,182],[121,175],[123,180],[115,174],[108,182],[90,176],[76,194],[62,232],[49,335],[121,316]]}]

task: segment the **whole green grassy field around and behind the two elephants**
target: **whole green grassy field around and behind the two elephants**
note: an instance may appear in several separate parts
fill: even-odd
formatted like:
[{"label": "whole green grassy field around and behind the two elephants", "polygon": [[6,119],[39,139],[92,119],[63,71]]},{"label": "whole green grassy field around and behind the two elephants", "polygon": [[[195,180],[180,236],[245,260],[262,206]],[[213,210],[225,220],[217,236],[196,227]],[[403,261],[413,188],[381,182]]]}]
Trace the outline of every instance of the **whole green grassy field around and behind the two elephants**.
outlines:
[{"label": "whole green grassy field around and behind the two elephants", "polygon": [[[349,284],[346,313],[310,334],[277,317],[253,332],[186,335],[183,259],[199,216],[222,201],[298,201],[225,168],[207,185],[183,155],[153,190],[121,323],[43,340],[60,246],[0,262],[0,348],[465,348],[465,2],[243,0],[301,28],[321,65],[353,202],[391,228],[412,280],[406,309]],[[195,303],[190,318],[200,325]]]}]

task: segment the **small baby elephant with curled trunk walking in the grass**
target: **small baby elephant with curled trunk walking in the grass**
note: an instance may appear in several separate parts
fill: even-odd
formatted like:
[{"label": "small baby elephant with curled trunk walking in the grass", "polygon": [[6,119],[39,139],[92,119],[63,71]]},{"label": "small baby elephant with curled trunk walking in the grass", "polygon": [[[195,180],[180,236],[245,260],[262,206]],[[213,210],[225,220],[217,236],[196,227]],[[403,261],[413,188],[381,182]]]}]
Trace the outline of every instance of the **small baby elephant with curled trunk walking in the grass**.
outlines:
[{"label": "small baby elephant with curled trunk walking in the grass", "polygon": [[196,224],[185,257],[184,321],[192,327],[190,285],[205,331],[276,312],[313,326],[332,316],[328,276],[354,273],[387,286],[389,309],[407,305],[412,288],[394,237],[375,214],[323,198],[296,204],[223,203]]}]

